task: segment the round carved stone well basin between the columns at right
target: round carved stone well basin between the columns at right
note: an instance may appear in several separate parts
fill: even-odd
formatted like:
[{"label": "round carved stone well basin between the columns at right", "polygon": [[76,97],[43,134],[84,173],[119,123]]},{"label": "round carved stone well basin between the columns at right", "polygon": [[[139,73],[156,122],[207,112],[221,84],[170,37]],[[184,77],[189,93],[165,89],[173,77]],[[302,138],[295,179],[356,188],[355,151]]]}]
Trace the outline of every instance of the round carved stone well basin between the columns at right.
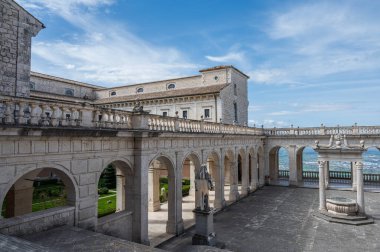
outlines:
[{"label": "round carved stone well basin between the columns at right", "polygon": [[358,212],[356,201],[344,197],[326,199],[326,208],[329,212],[345,216],[354,216]]}]

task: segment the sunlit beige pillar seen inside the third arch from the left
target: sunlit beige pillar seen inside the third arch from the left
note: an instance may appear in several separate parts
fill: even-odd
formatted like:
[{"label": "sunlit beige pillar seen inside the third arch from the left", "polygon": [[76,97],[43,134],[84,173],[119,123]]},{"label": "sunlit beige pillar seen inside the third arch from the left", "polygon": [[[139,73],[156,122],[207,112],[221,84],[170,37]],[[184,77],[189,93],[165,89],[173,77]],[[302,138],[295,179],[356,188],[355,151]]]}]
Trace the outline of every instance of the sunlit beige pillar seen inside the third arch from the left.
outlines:
[{"label": "sunlit beige pillar seen inside the third arch from the left", "polygon": [[[155,165],[155,164],[153,164]],[[148,211],[155,212],[161,209],[160,205],[160,174],[157,167],[150,167],[148,171],[148,183],[149,183],[149,191],[148,191]]]}]

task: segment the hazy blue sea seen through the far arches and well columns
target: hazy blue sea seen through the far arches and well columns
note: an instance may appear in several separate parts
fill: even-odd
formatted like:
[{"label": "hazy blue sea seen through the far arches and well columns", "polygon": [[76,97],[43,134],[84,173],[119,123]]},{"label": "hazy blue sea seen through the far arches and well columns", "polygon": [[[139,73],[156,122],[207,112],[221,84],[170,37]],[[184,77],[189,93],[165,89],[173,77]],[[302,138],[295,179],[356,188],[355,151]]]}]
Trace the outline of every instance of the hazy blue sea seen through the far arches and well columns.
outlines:
[{"label": "hazy blue sea seen through the far arches and well columns", "polygon": [[[280,170],[289,170],[289,157],[284,148],[279,151]],[[363,153],[363,173],[380,174],[380,151],[370,148]],[[304,171],[318,171],[317,153],[310,147],[303,151],[303,169]],[[330,162],[330,171],[351,171],[349,162]]]}]

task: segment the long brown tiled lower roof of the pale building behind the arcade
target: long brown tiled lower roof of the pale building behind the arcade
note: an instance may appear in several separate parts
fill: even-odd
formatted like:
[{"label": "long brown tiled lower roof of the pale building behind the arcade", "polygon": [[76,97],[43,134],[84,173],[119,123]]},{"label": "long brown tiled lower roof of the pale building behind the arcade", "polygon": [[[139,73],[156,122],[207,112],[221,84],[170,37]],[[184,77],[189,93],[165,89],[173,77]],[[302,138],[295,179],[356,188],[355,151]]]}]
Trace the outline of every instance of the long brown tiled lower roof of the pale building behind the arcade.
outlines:
[{"label": "long brown tiled lower roof of the pale building behind the arcade", "polygon": [[168,90],[163,92],[155,92],[155,93],[140,93],[119,97],[110,97],[99,99],[95,101],[96,104],[106,104],[106,103],[115,103],[115,102],[126,102],[126,101],[136,101],[136,100],[151,100],[151,99],[159,99],[159,98],[171,98],[171,97],[179,97],[179,96],[190,96],[190,95],[200,95],[200,94],[214,94],[220,92],[223,88],[228,86],[228,84],[222,85],[211,85],[206,87],[195,87],[195,88],[184,88],[184,89],[176,89],[176,90]]}]

